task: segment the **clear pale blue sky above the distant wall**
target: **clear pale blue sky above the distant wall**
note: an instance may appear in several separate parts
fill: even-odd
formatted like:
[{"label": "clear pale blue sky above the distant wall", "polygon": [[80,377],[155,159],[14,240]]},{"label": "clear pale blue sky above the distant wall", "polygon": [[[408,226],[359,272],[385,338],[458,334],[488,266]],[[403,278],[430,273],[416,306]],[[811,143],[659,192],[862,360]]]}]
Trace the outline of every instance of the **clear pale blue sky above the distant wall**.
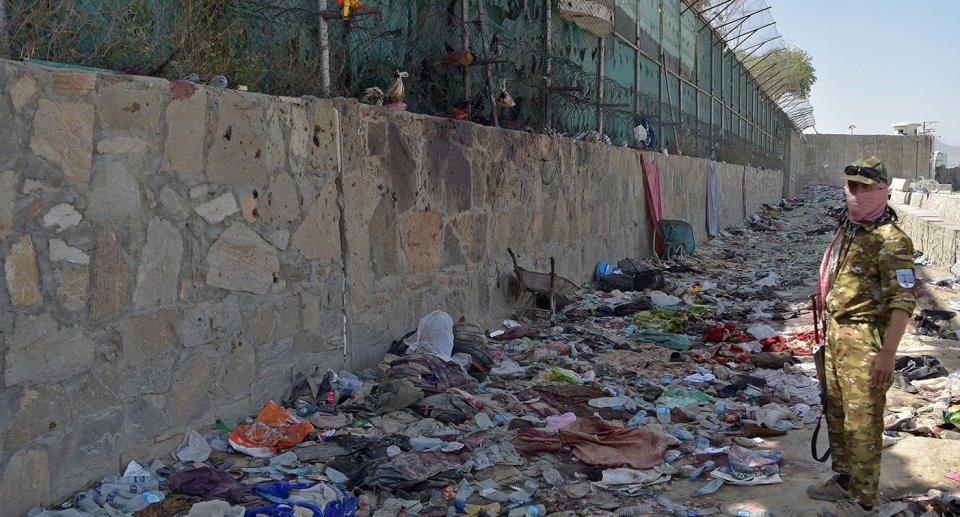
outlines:
[{"label": "clear pale blue sky above the distant wall", "polygon": [[895,122],[936,120],[937,138],[960,145],[960,1],[768,5],[784,41],[813,57],[817,131],[894,134]]}]

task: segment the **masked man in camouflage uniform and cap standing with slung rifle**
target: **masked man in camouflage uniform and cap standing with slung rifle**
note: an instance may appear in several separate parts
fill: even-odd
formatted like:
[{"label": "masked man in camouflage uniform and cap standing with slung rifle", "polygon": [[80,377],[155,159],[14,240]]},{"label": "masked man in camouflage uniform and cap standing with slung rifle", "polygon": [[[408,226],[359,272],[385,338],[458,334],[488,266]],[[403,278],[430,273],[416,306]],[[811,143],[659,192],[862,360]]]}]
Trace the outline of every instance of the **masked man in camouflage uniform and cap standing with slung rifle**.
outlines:
[{"label": "masked man in camouflage uniform and cap standing with slung rifle", "polygon": [[807,494],[838,502],[836,509],[821,509],[822,516],[864,516],[873,515],[877,499],[886,393],[916,306],[916,280],[913,243],[886,206],[883,162],[857,160],[842,177],[847,211],[825,256],[832,275],[821,289],[828,291],[822,306],[829,313],[824,413],[836,474]]}]

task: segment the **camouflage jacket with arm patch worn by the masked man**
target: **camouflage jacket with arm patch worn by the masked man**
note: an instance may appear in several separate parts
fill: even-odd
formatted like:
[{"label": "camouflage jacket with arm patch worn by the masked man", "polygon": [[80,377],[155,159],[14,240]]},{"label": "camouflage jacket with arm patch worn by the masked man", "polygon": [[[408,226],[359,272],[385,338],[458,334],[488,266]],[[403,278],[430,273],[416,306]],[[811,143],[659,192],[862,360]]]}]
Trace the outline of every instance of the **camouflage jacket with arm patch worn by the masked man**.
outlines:
[{"label": "camouflage jacket with arm patch worn by the masked man", "polygon": [[833,286],[826,310],[836,320],[888,321],[892,309],[913,313],[913,242],[892,221],[850,225],[830,260]]}]

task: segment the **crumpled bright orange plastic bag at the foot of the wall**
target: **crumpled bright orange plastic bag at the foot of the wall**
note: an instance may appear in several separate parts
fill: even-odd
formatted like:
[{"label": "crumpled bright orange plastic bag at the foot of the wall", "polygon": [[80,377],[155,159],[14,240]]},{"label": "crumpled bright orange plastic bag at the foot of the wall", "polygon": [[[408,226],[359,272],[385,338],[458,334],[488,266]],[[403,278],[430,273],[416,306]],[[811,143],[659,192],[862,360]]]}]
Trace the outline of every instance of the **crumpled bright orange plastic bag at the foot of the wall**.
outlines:
[{"label": "crumpled bright orange plastic bag at the foot of the wall", "polygon": [[252,424],[234,428],[227,441],[237,452],[267,458],[302,442],[312,432],[310,422],[301,421],[270,401]]}]

